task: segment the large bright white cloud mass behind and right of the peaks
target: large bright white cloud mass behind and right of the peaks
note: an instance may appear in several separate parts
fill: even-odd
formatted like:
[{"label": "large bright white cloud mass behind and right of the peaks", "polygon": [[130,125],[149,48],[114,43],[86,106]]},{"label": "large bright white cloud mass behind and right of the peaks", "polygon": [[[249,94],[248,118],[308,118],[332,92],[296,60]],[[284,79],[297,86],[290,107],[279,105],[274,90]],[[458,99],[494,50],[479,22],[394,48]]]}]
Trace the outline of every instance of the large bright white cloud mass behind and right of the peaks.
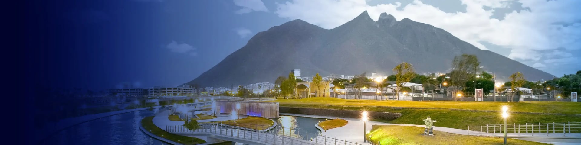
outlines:
[{"label": "large bright white cloud mass behind and right of the peaks", "polygon": [[[519,1],[529,10],[505,14],[493,19],[494,8],[507,8],[507,0],[461,0],[466,12],[446,13],[415,0],[408,5],[399,2],[370,6],[365,0],[293,0],[277,3],[279,17],[301,19],[322,28],[335,28],[367,10],[371,19],[392,14],[397,20],[409,18],[442,28],[477,48],[480,42],[510,49],[511,59],[541,61],[553,57],[547,50],[576,50],[581,46],[581,1]],[[493,8],[485,10],[483,6]],[[577,22],[577,23],[575,23]],[[571,24],[568,27],[561,24]],[[507,50],[508,51],[508,50]],[[562,54],[562,53],[561,53]]]}]

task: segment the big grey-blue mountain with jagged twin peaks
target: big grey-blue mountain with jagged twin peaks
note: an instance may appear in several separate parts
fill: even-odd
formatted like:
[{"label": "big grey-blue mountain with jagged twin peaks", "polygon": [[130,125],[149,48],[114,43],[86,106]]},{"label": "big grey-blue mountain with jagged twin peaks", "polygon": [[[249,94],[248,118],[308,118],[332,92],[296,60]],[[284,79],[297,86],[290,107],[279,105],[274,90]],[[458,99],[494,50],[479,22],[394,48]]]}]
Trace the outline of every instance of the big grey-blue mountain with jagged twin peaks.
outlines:
[{"label": "big grey-blue mountain with jagged twin peaks", "polygon": [[357,75],[364,72],[392,74],[403,61],[418,74],[449,72],[454,56],[474,54],[484,70],[508,80],[519,71],[526,79],[554,76],[454,37],[441,28],[410,19],[397,21],[382,13],[378,21],[361,13],[342,26],[327,30],[303,20],[292,20],[254,35],[248,44],[227,56],[190,85],[246,85],[274,82],[300,69],[303,77]]}]

